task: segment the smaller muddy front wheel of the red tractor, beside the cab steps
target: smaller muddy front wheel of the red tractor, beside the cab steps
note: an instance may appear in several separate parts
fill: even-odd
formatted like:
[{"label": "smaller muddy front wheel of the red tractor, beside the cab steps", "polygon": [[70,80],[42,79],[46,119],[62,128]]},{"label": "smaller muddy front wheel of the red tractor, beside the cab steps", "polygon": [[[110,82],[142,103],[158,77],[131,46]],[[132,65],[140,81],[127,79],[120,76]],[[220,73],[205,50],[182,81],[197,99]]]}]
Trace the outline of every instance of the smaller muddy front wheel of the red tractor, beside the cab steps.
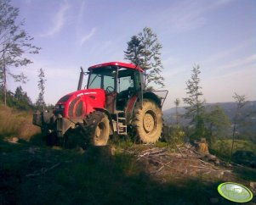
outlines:
[{"label": "smaller muddy front wheel of the red tractor, beside the cab steps", "polygon": [[105,146],[110,136],[110,121],[108,117],[95,111],[84,119],[85,129],[88,130],[89,141],[94,146]]}]

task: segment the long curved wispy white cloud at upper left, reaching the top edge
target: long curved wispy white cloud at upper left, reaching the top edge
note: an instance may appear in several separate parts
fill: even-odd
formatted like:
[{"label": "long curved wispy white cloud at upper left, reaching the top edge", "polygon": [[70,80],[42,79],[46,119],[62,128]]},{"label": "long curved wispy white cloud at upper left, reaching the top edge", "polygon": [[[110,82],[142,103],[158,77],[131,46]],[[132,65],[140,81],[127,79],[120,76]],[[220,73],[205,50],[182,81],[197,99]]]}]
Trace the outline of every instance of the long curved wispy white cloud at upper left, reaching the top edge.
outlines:
[{"label": "long curved wispy white cloud at upper left, reaching the top edge", "polygon": [[60,30],[65,25],[65,16],[66,16],[66,12],[69,8],[70,8],[70,6],[66,2],[60,6],[59,11],[53,18],[53,24],[52,24],[51,28],[48,31],[46,31],[45,33],[43,33],[41,35],[42,37],[54,36],[55,34],[60,32]]}]

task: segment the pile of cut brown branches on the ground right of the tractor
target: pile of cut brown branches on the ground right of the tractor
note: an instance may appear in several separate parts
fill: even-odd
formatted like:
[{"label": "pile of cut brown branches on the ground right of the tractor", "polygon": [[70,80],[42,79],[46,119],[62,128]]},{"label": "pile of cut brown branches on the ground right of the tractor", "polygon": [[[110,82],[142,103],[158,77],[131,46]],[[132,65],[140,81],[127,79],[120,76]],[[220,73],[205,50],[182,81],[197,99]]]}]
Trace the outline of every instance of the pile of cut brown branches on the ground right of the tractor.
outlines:
[{"label": "pile of cut brown branches on the ground right of the tractor", "polygon": [[[211,155],[214,163],[202,159],[207,156],[196,152],[195,147],[177,147],[177,152],[169,152],[168,148],[153,147],[136,154],[137,160],[149,168],[151,175],[213,175],[217,177],[230,173],[230,170],[216,166],[219,161]],[[211,160],[208,160],[211,161]]]}]

